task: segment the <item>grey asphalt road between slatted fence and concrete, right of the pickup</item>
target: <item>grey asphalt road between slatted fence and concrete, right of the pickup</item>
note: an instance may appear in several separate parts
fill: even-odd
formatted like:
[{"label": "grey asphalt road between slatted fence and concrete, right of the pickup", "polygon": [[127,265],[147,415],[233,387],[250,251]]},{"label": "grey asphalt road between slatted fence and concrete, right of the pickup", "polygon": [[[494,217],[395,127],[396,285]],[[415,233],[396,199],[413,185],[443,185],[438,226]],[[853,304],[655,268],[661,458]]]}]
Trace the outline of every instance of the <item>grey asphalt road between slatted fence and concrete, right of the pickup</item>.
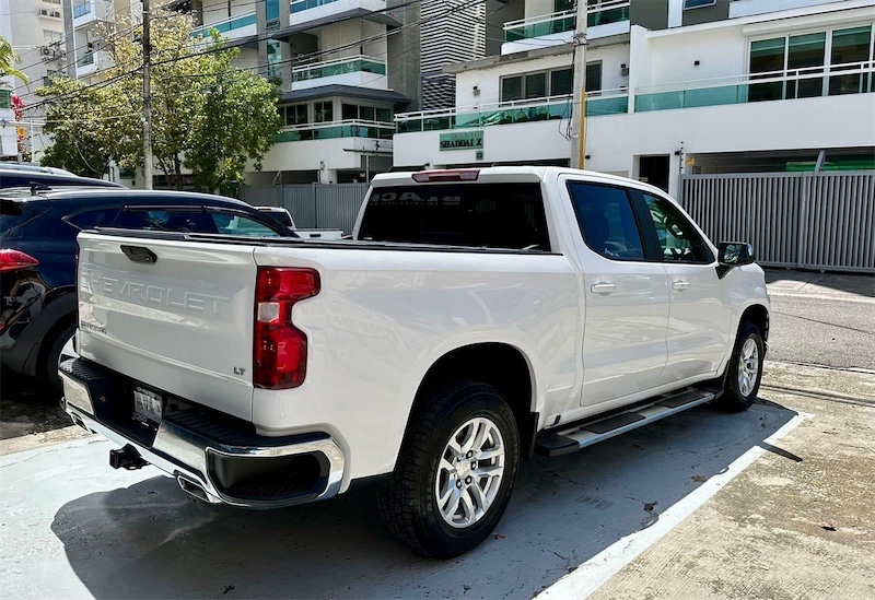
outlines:
[{"label": "grey asphalt road between slatted fence and concrete, right of the pickup", "polygon": [[768,360],[875,369],[875,301],[772,295]]}]

